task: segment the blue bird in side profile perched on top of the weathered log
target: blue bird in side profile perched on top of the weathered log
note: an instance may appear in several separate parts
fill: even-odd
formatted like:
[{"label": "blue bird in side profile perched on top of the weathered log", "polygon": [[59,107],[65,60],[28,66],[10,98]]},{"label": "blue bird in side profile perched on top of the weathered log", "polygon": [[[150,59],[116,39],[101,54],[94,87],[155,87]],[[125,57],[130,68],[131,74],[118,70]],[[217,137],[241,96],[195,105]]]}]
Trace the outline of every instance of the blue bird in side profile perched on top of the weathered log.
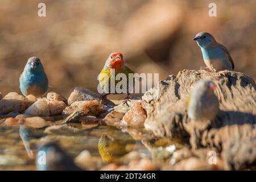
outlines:
[{"label": "blue bird in side profile perched on top of the weathered log", "polygon": [[193,40],[196,40],[201,48],[204,63],[210,71],[234,69],[234,63],[228,49],[218,43],[212,35],[207,32],[199,32]]}]

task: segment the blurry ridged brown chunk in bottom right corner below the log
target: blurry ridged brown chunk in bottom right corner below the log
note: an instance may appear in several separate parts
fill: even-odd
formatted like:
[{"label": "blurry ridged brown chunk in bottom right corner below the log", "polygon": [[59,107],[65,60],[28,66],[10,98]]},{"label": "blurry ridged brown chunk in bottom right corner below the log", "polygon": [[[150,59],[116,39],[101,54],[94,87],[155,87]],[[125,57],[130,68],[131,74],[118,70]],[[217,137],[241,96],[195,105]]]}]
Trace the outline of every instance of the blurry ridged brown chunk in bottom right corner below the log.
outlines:
[{"label": "blurry ridged brown chunk in bottom right corner below the log", "polygon": [[204,131],[202,144],[222,148],[224,168],[242,170],[256,164],[256,125],[224,126]]}]

